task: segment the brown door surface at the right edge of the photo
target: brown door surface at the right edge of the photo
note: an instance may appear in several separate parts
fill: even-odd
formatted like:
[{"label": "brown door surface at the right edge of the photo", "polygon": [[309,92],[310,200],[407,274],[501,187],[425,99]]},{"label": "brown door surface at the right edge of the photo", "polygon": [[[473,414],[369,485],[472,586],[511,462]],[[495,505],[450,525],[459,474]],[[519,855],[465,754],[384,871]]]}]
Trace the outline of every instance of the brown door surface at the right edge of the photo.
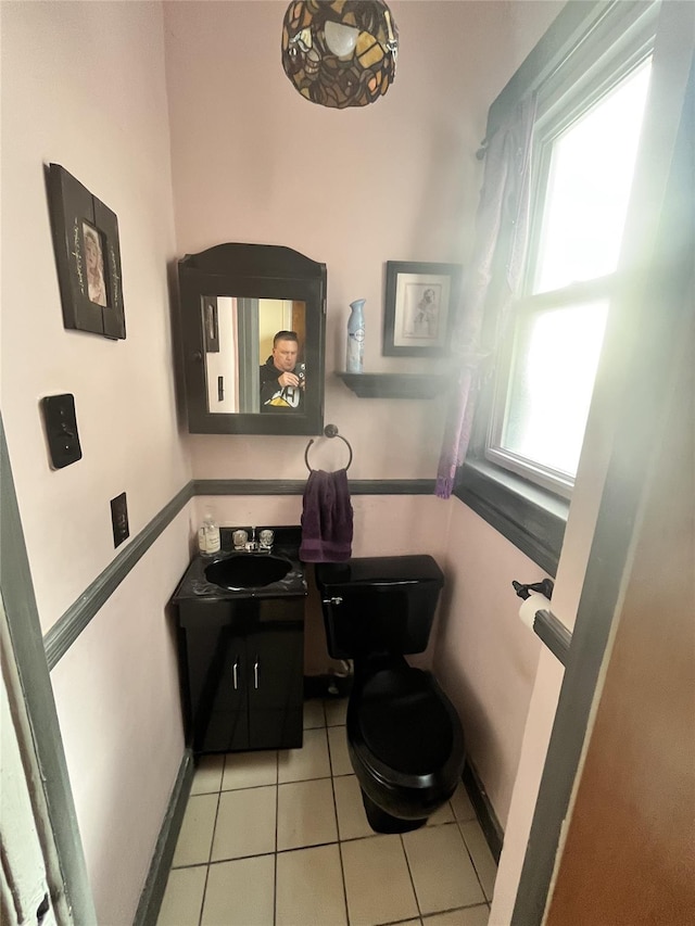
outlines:
[{"label": "brown door surface at the right edge of the photo", "polygon": [[693,325],[683,344],[547,926],[695,923]]}]

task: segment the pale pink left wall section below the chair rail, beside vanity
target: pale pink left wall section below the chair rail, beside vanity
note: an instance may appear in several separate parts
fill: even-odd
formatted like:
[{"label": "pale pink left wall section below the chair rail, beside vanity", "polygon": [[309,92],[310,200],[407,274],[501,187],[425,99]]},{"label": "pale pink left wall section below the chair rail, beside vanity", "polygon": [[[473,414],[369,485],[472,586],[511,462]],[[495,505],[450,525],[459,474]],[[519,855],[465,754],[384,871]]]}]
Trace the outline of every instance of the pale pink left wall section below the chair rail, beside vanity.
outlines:
[{"label": "pale pink left wall section below the chair rail, beside vanity", "polygon": [[132,922],[184,753],[172,591],[187,511],[154,544],[51,681],[99,923]]}]

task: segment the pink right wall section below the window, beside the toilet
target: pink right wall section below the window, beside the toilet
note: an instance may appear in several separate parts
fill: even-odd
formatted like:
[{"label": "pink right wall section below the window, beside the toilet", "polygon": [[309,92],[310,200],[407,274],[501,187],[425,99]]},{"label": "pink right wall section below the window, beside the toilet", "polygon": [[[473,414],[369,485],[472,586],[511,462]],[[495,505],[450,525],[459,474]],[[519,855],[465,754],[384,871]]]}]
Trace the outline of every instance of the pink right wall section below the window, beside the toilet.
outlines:
[{"label": "pink right wall section below the window, beside the toilet", "polygon": [[468,754],[505,826],[541,650],[519,619],[511,581],[539,582],[545,573],[456,502],[445,572],[434,671],[458,708]]}]

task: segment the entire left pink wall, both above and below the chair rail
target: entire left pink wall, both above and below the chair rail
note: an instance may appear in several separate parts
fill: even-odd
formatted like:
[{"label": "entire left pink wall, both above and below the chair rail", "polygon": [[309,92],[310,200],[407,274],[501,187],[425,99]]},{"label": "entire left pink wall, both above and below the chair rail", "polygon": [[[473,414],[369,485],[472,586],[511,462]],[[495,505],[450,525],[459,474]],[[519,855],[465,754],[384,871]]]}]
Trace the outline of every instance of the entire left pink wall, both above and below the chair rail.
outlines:
[{"label": "entire left pink wall, both above and below the chair rail", "polygon": [[[166,266],[175,254],[159,3],[2,4],[2,414],[46,632],[190,479],[176,422]],[[118,216],[126,341],[63,328],[45,164]],[[51,471],[43,395],[72,392],[84,457]],[[52,673],[100,923],[132,922],[180,763],[164,605],[186,511]]]}]

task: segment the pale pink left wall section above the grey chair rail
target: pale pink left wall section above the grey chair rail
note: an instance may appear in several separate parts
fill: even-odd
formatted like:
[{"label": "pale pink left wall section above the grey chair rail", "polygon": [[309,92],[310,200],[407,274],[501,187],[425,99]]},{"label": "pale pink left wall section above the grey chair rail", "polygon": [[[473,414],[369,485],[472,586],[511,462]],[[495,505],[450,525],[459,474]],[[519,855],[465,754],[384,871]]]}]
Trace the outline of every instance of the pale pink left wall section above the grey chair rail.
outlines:
[{"label": "pale pink left wall section above the grey chair rail", "polygon": [[[170,361],[161,11],[8,4],[2,51],[2,411],[47,631],[113,559],[109,500],[127,492],[134,535],[189,478]],[[49,162],[118,216],[125,341],[63,328]],[[75,395],[84,456],[53,472],[38,403],[60,392]]]}]

